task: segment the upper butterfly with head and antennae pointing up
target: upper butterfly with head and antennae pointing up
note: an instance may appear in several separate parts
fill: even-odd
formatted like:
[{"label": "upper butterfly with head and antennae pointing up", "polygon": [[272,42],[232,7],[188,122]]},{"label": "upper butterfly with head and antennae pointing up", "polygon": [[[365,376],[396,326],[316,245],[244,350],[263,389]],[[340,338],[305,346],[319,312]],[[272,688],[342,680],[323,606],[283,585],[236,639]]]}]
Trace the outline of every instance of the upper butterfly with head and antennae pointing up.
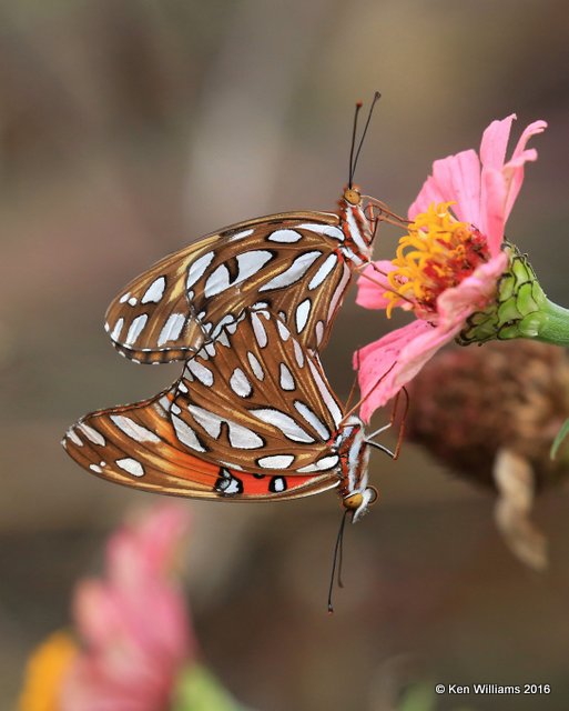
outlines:
[{"label": "upper butterfly with head and antennae pointing up", "polygon": [[287,322],[309,351],[324,348],[355,270],[370,261],[376,200],[349,180],[333,212],[282,212],[227,227],[156,262],[112,301],[105,329],[113,346],[141,363],[186,360],[245,308]]}]

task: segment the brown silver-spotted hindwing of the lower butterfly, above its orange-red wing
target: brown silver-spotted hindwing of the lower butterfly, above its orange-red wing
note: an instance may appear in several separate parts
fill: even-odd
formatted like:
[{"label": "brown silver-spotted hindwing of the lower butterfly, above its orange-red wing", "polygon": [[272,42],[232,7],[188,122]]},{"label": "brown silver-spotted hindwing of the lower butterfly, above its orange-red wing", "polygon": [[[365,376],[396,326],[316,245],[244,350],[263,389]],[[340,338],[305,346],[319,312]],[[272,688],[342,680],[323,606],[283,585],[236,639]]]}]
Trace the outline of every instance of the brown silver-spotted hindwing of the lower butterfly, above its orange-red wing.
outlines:
[{"label": "brown silver-spotted hindwing of the lower butterfly, above its orange-red wing", "polygon": [[265,310],[243,312],[187,362],[171,407],[184,447],[253,473],[336,472],[342,417],[317,358]]}]

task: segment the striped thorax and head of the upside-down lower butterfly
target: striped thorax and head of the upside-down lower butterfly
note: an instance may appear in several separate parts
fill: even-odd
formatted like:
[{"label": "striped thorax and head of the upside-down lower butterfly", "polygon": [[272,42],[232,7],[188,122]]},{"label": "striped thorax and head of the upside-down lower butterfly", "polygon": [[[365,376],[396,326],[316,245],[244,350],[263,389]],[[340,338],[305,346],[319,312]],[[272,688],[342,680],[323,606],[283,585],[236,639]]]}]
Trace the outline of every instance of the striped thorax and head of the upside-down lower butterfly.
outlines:
[{"label": "striped thorax and head of the upside-down lower butterfly", "polygon": [[348,418],[335,444],[341,467],[338,493],[344,508],[353,511],[353,520],[356,521],[377,498],[376,490],[367,485],[369,451],[362,420]]}]

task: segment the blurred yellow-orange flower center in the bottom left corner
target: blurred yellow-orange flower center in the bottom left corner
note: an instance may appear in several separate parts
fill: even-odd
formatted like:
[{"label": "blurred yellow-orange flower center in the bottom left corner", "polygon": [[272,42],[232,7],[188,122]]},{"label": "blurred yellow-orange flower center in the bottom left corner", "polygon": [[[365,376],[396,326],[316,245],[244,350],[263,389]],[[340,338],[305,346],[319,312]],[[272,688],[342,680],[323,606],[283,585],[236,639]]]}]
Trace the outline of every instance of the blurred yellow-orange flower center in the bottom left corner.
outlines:
[{"label": "blurred yellow-orange flower center in the bottom left corner", "polygon": [[78,653],[65,632],[54,632],[32,652],[18,711],[60,711],[63,678]]}]

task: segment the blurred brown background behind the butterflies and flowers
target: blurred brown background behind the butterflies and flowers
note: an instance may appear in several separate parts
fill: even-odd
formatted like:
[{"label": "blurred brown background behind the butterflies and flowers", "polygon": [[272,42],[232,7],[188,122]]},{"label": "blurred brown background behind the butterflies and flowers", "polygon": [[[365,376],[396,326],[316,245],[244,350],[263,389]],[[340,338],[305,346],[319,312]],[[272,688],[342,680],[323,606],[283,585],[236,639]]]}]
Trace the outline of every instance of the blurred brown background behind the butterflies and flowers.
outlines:
[{"label": "blurred brown background behind the butterflies and flowers", "polygon": [[[151,499],[89,477],[59,444],[80,415],[154,394],[180,371],[120,358],[102,328],[108,303],[205,232],[333,210],[356,100],[383,93],[356,180],[399,213],[431,161],[478,148],[490,120],[516,111],[516,136],[547,120],[507,234],[530,253],[549,297],[569,306],[569,8],[18,0],[0,6],[0,705],[9,709],[27,655],[68,623],[73,582],[98,569],[108,531]],[[395,238],[384,231],[376,254]],[[353,350],[385,329],[352,291],[324,356],[341,397]],[[551,553],[536,573],[496,531],[491,492],[418,447],[406,444],[395,463],[374,452],[372,479],[380,502],[347,532],[333,617],[334,492],[271,507],[187,502],[189,597],[203,657],[224,683],[260,711],[384,711],[385,689],[414,679],[549,683],[538,700],[464,701],[480,711],[567,709],[567,492],[538,501]],[[460,701],[441,697],[437,709]]]}]

